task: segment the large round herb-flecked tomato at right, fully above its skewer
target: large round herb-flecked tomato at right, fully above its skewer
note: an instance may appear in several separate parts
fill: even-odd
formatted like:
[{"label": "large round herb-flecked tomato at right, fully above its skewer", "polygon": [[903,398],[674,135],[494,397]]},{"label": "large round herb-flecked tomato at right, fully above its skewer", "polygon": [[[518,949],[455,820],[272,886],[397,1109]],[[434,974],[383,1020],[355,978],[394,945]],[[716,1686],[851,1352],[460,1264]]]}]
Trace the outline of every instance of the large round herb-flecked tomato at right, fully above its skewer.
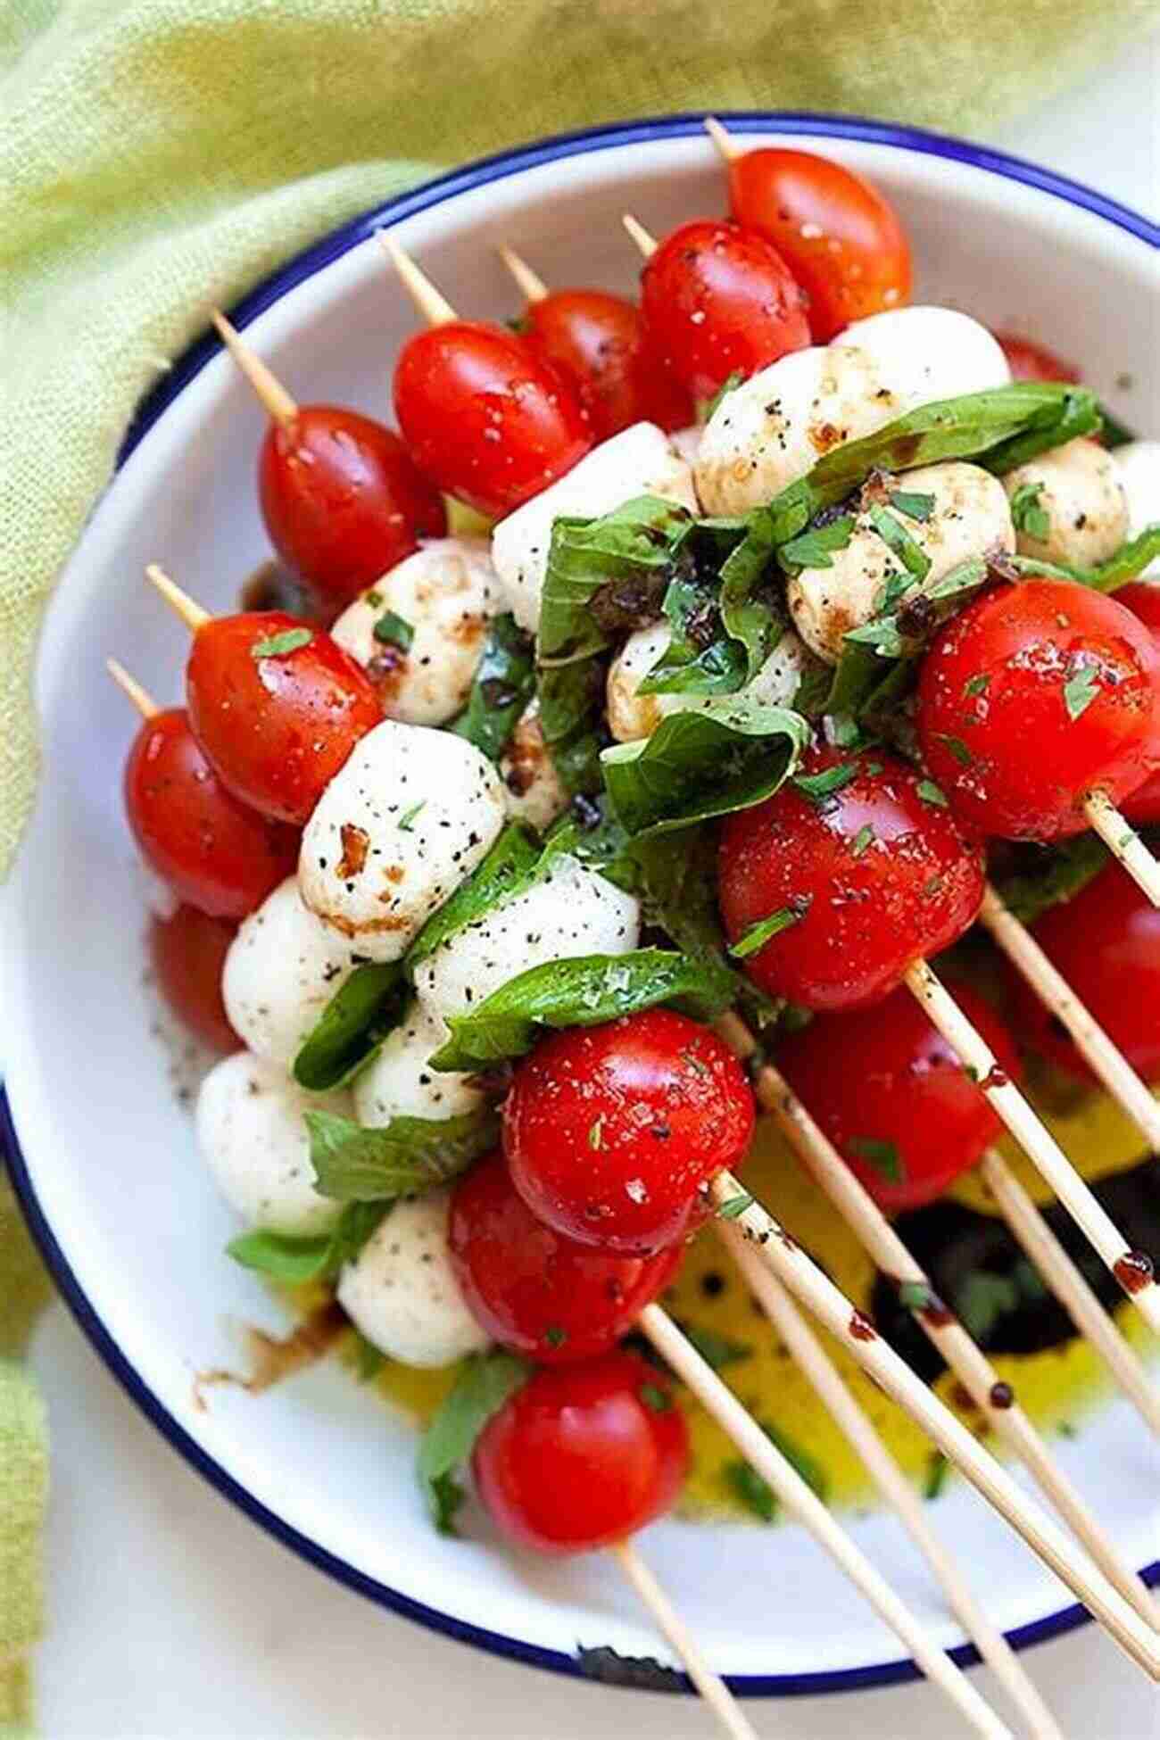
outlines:
[{"label": "large round herb-flecked tomato at right, fully above its skewer", "polygon": [[957,814],[981,833],[1052,840],[1083,799],[1144,783],[1160,726],[1160,652],[1115,599],[1068,579],[984,592],[936,635],[918,736]]}]

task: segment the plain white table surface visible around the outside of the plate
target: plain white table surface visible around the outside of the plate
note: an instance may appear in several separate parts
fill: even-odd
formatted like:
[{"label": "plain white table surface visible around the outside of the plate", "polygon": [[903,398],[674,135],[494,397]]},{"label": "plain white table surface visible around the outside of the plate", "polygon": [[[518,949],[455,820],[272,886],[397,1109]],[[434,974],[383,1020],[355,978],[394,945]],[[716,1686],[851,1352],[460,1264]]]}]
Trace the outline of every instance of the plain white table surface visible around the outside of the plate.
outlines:
[{"label": "plain white table surface visible around the outside of the plate", "polygon": [[[1160,40],[990,143],[1160,211]],[[43,1317],[31,1352],[52,1416],[52,1629],[38,1662],[47,1740],[710,1735],[692,1700],[513,1667],[379,1611],[193,1474],[63,1307]],[[1160,1737],[1160,1696],[1094,1627],[1024,1660],[1075,1740]],[[786,1740],[963,1731],[925,1686],[748,1712],[760,1735]]]}]

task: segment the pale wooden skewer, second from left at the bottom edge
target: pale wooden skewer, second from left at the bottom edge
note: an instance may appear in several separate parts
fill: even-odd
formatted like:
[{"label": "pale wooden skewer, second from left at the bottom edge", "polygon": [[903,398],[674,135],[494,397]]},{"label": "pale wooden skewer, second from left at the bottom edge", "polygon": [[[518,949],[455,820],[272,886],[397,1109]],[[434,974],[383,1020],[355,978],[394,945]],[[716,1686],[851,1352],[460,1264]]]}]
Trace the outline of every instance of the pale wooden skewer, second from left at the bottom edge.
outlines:
[{"label": "pale wooden skewer, second from left at the bottom edge", "polygon": [[[723,1188],[725,1195],[734,1195],[741,1187],[730,1178]],[[847,1302],[847,1315],[849,1308]],[[673,1319],[659,1305],[647,1305],[638,1317],[638,1328],[643,1329],[663,1359],[689,1385],[706,1411],[723,1427],[750,1467],[777,1495],[786,1512],[809,1529],[845,1576],[866,1596],[880,1618],[901,1637],[923,1674],[946,1693],[979,1733],[1005,1735],[1007,1728],[979,1696],[970,1681],[943,1650],[937,1650],[930,1643],[910,1608],[894,1594],[887,1580],[866,1559],[861,1547],[856,1545],[850,1535],[830,1514],[793,1463],[762,1432],[757,1420],[741,1406],[734,1392],[718,1378],[701,1354],[697,1354],[692,1342],[677,1328]]]}]

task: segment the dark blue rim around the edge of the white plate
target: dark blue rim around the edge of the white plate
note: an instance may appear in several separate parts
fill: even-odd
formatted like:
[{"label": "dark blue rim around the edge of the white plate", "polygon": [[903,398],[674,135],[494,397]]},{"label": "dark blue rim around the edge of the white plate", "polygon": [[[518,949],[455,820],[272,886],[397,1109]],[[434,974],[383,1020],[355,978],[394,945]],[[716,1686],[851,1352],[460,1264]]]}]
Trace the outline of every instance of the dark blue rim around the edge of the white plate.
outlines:
[{"label": "dark blue rim around the edge of the white plate", "polygon": [[[551,137],[539,139],[532,144],[497,151],[461,169],[452,169],[442,176],[424,181],[416,188],[383,200],[379,205],[374,205],[367,212],[362,212],[360,216],[337,226],[292,256],[283,266],[271,271],[252,291],[240,298],[240,301],[233,306],[233,320],[238,327],[247,325],[275,301],[285,296],[287,291],[294,289],[294,285],[301,284],[308,277],[313,277],[323,266],[367,240],[367,237],[388,223],[400,223],[416,212],[440,205],[471,188],[485,186],[490,181],[520,174],[525,169],[532,169],[539,164],[548,164],[562,157],[576,157],[588,151],[666,137],[694,136],[703,129],[704,113],[706,111],[685,111],[678,115],[645,117],[640,120],[581,127],[570,132],[553,134]],[[1050,193],[1070,205],[1077,205],[1097,218],[1106,219],[1151,247],[1160,249],[1160,226],[1151,223],[1141,212],[1136,212],[1130,207],[1122,205],[1118,200],[1113,200],[1094,188],[1083,186],[1068,176],[1056,174],[1054,171],[1043,169],[1024,158],[1012,157],[1005,151],[972,144],[967,139],[929,132],[920,127],[903,127],[861,117],[823,115],[809,110],[717,110],[713,113],[717,113],[723,122],[736,124],[739,129],[777,130],[800,137],[821,136],[830,139],[852,139],[962,162],[1009,181],[1017,181],[1024,186],[1033,186],[1043,193]],[[158,386],[155,386],[143,398],[122,442],[117,458],[118,470],[153,428],[158,418],[163,416],[167,407],[205,367],[205,364],[217,355],[221,345],[216,334],[207,331],[176,360],[163,381],[160,381]],[[94,1350],[104,1361],[129,1397],[158,1429],[158,1432],[162,1432],[172,1448],[238,1510],[249,1516],[259,1528],[266,1529],[268,1535],[278,1540],[283,1547],[289,1547],[306,1563],[317,1566],[336,1582],[344,1583],[357,1594],[369,1597],[403,1618],[414,1620],[416,1623],[447,1637],[454,1637],[459,1643],[473,1644],[490,1655],[504,1656],[506,1660],[541,1667],[569,1677],[588,1679],[593,1684],[598,1683],[595,1676],[583,1667],[576,1655],[565,1655],[563,1651],[548,1650],[539,1644],[527,1644],[518,1637],[508,1637],[503,1632],[490,1632],[483,1627],[471,1625],[466,1620],[457,1620],[449,1613],[430,1608],[424,1603],[381,1583],[377,1578],[367,1576],[363,1571],[358,1571],[348,1561],[330,1554],[325,1547],[320,1547],[308,1535],[303,1535],[299,1529],[278,1517],[277,1512],[256,1500],[252,1493],[249,1493],[219,1462],[209,1456],[197,1439],[193,1439],[184,1427],[177,1423],[153,1390],[150,1390],[150,1387],[143,1382],[101,1322],[40,1208],[28,1164],[16,1134],[7,1091],[3,1088],[0,1088],[0,1159],[7,1164],[16,1197],[40,1255],[57,1284],[61,1296],[77,1319],[80,1329],[92,1343]],[[1150,1585],[1160,1583],[1160,1561],[1146,1566],[1141,1571],[1141,1576]],[[1073,1603],[1059,1608],[1056,1613],[1043,1615],[1028,1625],[1010,1630],[1007,1637],[1016,1650],[1021,1650],[1035,1643],[1043,1643],[1049,1637],[1057,1637],[1063,1632],[1073,1630],[1077,1625],[1087,1623],[1089,1620],[1090,1615],[1087,1610],[1078,1603]],[[960,1644],[950,1650],[948,1655],[962,1667],[970,1667],[979,1662],[979,1653],[972,1644]],[[866,1663],[857,1669],[837,1669],[828,1672],[736,1674],[729,1676],[729,1684],[743,1696],[803,1696],[828,1691],[857,1691],[870,1686],[897,1684],[918,1677],[922,1676],[911,1660],[896,1658],[889,1662]],[[689,1693],[694,1691],[687,1679],[683,1679],[683,1690]]]}]

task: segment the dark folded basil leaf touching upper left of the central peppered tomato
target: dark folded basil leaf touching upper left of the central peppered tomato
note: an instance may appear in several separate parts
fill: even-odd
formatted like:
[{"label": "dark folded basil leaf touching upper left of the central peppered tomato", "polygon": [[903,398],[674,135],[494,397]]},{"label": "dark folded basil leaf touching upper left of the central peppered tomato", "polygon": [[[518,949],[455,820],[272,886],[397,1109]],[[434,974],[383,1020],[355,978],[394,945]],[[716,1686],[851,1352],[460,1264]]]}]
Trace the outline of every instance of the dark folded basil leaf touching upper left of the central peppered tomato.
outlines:
[{"label": "dark folded basil leaf touching upper left of the central peppered tomato", "polygon": [[628,833],[668,832],[760,804],[797,771],[809,726],[784,706],[744,696],[668,719],[642,743],[600,757],[612,807]]}]

